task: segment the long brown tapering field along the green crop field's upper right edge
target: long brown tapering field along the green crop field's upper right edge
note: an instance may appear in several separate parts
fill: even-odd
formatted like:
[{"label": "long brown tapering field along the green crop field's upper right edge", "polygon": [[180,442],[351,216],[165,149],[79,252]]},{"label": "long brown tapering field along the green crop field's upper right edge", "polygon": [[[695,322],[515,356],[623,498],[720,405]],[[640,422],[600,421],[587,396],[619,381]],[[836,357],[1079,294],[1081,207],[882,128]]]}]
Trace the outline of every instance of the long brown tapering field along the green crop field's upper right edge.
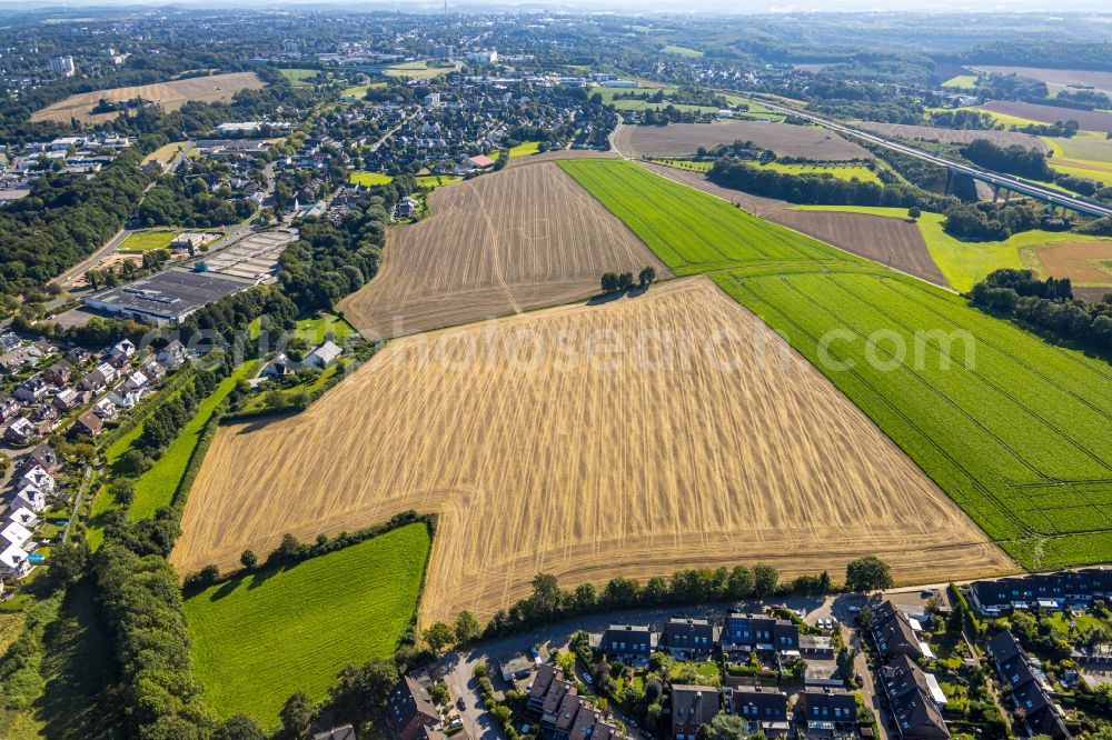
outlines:
[{"label": "long brown tapering field along the green crop field's upper right edge", "polygon": [[792,203],[751,196],[715,184],[699,172],[641,162],[647,170],[681,184],[738,203],[749,213],[834,244],[943,288],[950,287],[913,222],[840,211],[797,211]]}]

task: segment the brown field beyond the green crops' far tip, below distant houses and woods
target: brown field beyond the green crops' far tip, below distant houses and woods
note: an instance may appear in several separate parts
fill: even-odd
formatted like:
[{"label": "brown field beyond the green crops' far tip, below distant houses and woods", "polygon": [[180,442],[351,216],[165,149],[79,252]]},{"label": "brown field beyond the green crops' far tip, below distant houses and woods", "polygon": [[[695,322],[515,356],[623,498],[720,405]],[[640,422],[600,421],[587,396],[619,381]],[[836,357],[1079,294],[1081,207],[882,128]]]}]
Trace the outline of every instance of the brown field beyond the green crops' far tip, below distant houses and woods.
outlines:
[{"label": "brown field beyond the green crops' far tip, below distant houses and woods", "polygon": [[668,126],[623,126],[614,134],[614,148],[626,157],[687,157],[699,147],[752,141],[782,157],[835,161],[872,159],[867,150],[817,126],[791,126],[761,121],[715,121]]}]

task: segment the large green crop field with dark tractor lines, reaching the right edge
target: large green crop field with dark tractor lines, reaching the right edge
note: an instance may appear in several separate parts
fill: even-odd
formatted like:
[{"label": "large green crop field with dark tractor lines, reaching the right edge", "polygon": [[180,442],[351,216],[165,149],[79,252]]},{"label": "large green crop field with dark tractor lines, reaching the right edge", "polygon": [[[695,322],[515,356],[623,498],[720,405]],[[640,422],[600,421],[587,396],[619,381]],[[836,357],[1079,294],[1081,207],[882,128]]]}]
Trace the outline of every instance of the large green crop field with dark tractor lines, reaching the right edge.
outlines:
[{"label": "large green crop field with dark tractor lines, reaching the right edge", "polygon": [[783,332],[1021,566],[1108,559],[1108,364],[888,271],[714,279]]}]

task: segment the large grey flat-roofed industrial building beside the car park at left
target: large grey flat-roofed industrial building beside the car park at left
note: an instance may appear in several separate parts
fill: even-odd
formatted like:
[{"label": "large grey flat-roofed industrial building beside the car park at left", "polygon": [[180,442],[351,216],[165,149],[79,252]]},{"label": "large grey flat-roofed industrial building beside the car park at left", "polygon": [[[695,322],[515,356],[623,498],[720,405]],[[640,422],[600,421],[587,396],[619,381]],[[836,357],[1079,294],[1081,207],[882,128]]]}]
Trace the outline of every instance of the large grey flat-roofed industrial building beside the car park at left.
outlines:
[{"label": "large grey flat-roofed industrial building beside the car park at left", "polygon": [[91,309],[143,323],[179,323],[197,309],[238,293],[255,280],[171,268],[85,299]]}]

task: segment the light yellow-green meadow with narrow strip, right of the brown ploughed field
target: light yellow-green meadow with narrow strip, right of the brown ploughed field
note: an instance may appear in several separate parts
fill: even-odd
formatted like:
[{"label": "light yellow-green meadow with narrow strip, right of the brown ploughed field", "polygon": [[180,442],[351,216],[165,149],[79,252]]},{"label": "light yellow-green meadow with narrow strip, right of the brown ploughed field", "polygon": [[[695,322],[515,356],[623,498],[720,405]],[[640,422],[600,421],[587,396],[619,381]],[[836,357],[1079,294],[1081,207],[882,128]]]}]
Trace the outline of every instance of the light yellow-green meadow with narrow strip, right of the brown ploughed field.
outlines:
[{"label": "light yellow-green meadow with narrow strip, right of the brown ploughed field", "polygon": [[[851,213],[870,213],[906,219],[907,211],[903,208],[880,208],[868,206],[797,206],[801,211],[847,211]],[[1080,233],[1063,233],[1061,231],[1022,231],[1012,234],[1003,241],[961,241],[954,239],[942,228],[944,217],[941,213],[923,213],[917,221],[923,241],[954,290],[969,291],[974,284],[984,280],[993,270],[1002,268],[1023,269],[1021,250],[1045,247],[1056,242],[1106,240]]]}]

